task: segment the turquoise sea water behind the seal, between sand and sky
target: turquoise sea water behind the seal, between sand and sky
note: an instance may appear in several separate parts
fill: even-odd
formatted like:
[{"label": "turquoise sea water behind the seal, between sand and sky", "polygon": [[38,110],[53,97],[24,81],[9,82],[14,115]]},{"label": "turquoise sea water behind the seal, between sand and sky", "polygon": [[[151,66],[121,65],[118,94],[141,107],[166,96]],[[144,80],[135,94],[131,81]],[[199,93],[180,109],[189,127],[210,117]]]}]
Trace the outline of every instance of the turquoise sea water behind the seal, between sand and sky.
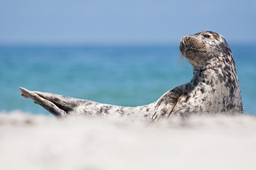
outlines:
[{"label": "turquoise sea water behind the seal, between sand and sky", "polygon": [[[230,45],[244,111],[256,115],[256,45]],[[49,114],[19,87],[107,104],[154,102],[189,82],[188,61],[179,65],[178,45],[1,46],[0,111]]]}]

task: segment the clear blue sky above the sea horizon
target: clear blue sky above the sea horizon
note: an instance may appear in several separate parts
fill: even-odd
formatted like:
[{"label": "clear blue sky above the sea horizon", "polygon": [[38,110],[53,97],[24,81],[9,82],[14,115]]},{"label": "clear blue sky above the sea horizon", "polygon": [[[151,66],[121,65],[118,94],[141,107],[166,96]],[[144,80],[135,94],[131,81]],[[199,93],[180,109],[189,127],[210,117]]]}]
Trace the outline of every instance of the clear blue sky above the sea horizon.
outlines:
[{"label": "clear blue sky above the sea horizon", "polygon": [[1,44],[179,43],[205,30],[256,42],[256,1],[0,0]]}]

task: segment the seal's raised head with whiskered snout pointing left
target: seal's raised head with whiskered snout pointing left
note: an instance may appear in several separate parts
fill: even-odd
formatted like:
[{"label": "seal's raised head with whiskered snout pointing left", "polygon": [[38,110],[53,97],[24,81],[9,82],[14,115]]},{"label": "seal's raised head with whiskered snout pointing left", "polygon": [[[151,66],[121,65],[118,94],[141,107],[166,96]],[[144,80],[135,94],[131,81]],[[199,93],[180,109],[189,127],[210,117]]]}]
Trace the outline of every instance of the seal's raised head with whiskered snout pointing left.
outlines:
[{"label": "seal's raised head with whiskered snout pointing left", "polygon": [[180,52],[194,68],[208,65],[212,58],[231,54],[223,36],[212,31],[184,36],[180,40]]}]

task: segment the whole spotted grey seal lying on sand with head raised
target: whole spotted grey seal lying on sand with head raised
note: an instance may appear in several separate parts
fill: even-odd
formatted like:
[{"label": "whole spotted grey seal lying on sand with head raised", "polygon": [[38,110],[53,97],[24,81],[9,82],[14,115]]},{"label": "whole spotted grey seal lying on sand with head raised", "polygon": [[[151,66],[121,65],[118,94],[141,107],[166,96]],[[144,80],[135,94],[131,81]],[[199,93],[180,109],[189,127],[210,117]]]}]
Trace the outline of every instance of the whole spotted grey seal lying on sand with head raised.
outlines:
[{"label": "whole spotted grey seal lying on sand with head raised", "polygon": [[74,114],[117,115],[156,121],[172,115],[187,117],[193,114],[243,113],[234,56],[223,36],[212,31],[184,36],[180,40],[180,52],[192,66],[193,78],[167,91],[152,104],[122,107],[25,88],[20,88],[21,95],[32,98],[56,117]]}]

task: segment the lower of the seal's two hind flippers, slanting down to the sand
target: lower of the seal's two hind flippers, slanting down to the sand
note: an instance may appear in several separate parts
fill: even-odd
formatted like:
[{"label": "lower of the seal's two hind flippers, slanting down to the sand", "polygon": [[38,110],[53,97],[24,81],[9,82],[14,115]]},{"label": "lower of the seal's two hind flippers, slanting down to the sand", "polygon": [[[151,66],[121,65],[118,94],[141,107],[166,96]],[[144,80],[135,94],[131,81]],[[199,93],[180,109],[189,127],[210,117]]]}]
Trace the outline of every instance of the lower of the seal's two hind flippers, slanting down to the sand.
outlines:
[{"label": "lower of the seal's two hind flippers, slanting down to the sand", "polygon": [[33,91],[29,91],[25,88],[20,88],[21,96],[24,98],[32,98],[37,104],[42,105],[47,111],[51,112],[56,117],[65,117],[67,112],[63,109],[59,108],[56,104],[52,103],[51,101],[40,97]]}]

